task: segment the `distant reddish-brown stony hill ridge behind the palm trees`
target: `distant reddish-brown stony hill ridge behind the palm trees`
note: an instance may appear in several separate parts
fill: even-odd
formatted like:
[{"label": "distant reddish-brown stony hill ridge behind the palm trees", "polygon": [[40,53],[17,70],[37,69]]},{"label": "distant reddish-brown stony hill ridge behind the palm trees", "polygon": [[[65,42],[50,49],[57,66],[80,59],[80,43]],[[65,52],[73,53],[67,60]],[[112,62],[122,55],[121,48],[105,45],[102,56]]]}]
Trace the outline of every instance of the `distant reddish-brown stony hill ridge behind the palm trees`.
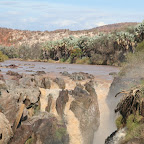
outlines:
[{"label": "distant reddish-brown stony hill ridge behind the palm trees", "polygon": [[32,45],[35,43],[43,43],[49,40],[59,40],[71,35],[75,37],[80,36],[94,36],[100,32],[109,33],[113,31],[122,31],[129,26],[135,26],[138,23],[117,23],[101,27],[96,27],[88,30],[70,31],[68,29],[55,30],[55,31],[28,31],[16,30],[8,28],[0,28],[0,45],[5,46],[18,46],[22,44]]}]

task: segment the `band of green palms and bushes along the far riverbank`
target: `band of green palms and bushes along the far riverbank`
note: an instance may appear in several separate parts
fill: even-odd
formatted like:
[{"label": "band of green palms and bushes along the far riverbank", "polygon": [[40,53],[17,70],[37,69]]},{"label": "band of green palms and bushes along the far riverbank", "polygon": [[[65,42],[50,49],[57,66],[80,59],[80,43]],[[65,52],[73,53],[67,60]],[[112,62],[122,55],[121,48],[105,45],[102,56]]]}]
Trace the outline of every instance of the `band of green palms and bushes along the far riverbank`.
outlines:
[{"label": "band of green palms and bushes along the far riverbank", "polygon": [[9,58],[68,63],[120,65],[128,53],[135,53],[144,40],[144,22],[122,32],[98,33],[93,37],[70,36],[32,46],[4,47],[0,50]]}]

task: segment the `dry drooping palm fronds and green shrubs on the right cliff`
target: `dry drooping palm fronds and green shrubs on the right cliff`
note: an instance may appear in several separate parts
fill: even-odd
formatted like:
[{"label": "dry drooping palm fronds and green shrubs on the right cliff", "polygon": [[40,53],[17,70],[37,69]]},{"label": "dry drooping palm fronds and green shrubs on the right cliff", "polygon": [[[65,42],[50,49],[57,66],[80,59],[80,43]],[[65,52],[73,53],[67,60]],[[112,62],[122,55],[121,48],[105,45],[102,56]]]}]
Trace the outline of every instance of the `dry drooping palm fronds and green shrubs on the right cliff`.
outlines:
[{"label": "dry drooping palm fronds and green shrubs on the right cliff", "polygon": [[[116,119],[117,128],[126,127],[126,136],[123,144],[134,139],[144,142],[144,83],[129,91],[122,91],[124,96],[118,103],[115,112],[120,116]],[[118,93],[116,96],[118,96]]]}]

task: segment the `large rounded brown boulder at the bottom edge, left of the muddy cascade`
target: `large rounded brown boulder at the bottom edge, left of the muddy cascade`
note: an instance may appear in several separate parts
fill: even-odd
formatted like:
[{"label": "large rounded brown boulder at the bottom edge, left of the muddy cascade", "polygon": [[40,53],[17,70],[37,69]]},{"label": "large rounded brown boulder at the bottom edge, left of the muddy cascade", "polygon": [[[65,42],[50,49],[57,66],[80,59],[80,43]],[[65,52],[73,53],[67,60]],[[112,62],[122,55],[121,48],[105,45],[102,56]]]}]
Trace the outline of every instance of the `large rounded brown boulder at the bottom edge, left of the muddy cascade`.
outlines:
[{"label": "large rounded brown boulder at the bottom edge, left of the muddy cascade", "polygon": [[68,144],[69,137],[66,126],[47,112],[39,113],[22,123],[10,144]]}]

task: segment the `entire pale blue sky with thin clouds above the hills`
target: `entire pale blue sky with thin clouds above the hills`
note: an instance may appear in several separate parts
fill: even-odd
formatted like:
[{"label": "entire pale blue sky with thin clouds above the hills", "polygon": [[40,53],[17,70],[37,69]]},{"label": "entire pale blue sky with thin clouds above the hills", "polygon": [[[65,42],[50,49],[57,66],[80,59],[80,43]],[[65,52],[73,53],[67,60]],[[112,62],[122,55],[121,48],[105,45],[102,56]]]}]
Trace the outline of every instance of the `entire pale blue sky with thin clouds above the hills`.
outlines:
[{"label": "entire pale blue sky with thin clouds above the hills", "polygon": [[144,0],[0,0],[0,27],[83,30],[142,22]]}]

